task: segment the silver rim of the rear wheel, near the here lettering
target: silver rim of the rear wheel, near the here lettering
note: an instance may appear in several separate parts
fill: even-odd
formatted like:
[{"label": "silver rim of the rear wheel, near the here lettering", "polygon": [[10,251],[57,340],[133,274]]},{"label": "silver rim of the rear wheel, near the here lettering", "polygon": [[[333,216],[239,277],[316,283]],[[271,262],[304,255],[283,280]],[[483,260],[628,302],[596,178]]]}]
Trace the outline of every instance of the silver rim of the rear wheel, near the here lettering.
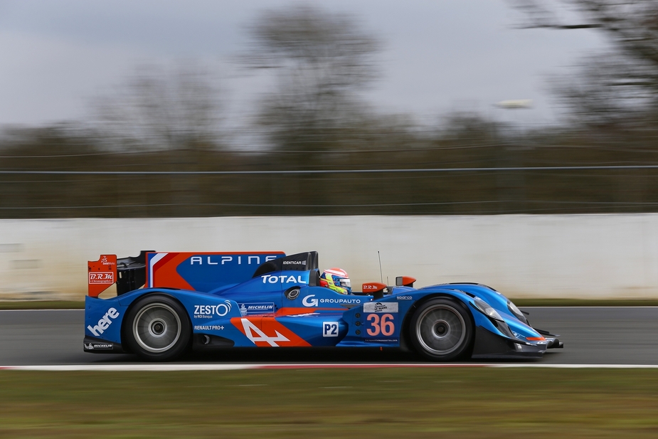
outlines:
[{"label": "silver rim of the rear wheel, near the here lettering", "polygon": [[154,303],[139,311],[132,325],[132,333],[142,349],[164,352],[181,337],[181,319],[168,305]]}]

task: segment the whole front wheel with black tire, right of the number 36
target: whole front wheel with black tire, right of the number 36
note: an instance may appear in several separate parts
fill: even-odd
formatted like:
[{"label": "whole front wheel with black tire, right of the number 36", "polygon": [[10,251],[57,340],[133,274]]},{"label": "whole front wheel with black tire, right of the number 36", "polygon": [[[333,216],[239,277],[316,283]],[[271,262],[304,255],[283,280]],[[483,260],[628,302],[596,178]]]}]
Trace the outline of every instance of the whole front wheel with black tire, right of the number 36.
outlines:
[{"label": "whole front wheel with black tire, right of the number 36", "polygon": [[413,347],[431,361],[453,361],[469,356],[474,332],[467,308],[447,297],[430,299],[420,305],[409,324]]}]

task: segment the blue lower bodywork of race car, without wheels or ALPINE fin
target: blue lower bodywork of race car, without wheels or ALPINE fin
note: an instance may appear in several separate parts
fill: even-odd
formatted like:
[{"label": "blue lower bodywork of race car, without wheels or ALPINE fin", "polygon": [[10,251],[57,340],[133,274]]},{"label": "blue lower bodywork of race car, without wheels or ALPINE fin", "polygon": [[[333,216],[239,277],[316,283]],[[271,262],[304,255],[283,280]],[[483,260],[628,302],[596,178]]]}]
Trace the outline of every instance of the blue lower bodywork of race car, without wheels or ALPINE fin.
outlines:
[{"label": "blue lower bodywork of race car, without wheels or ALPINE fin", "polygon": [[[85,351],[127,351],[124,317],[136,300],[154,294],[172,297],[184,307],[195,347],[410,349],[410,318],[434,297],[465,305],[474,323],[472,357],[541,356],[557,342],[522,321],[522,315],[514,315],[509,300],[484,285],[388,287],[388,294],[375,298],[364,293],[341,295],[314,285],[317,268],[256,274],[207,292],[147,287],[110,299],[86,297]],[[496,310],[502,321],[482,312],[477,300]]]}]

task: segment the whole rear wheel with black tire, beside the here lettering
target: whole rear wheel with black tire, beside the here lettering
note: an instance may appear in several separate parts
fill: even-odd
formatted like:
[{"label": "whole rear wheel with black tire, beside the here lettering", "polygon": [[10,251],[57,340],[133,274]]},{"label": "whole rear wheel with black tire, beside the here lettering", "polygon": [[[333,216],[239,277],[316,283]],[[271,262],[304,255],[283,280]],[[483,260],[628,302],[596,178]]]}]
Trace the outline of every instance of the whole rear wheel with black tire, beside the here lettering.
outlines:
[{"label": "whole rear wheel with black tire, beside the here lettering", "polygon": [[192,327],[172,297],[147,295],[130,307],[124,324],[129,349],[147,361],[170,361],[189,348]]}]

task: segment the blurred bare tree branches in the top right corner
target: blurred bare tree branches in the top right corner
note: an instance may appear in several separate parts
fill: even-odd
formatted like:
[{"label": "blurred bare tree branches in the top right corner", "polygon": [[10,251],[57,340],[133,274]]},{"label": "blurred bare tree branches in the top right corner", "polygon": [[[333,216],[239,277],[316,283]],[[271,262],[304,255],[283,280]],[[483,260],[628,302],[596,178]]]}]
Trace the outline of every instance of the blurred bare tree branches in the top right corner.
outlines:
[{"label": "blurred bare tree branches in the top right corner", "polygon": [[[571,112],[610,125],[658,110],[658,2],[655,0],[515,0],[526,27],[603,33],[611,50],[585,57],[578,75],[553,86]],[[567,17],[565,17],[567,16]]]}]

